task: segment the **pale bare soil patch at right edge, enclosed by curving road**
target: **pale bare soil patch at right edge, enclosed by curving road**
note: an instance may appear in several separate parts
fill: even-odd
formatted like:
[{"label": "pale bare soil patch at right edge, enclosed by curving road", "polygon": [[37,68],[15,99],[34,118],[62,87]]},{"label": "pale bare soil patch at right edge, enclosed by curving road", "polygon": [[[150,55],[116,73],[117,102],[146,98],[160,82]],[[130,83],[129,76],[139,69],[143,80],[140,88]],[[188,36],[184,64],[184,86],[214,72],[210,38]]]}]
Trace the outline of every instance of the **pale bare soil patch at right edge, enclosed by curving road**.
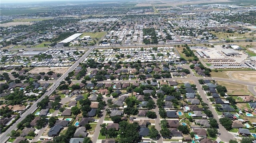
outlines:
[{"label": "pale bare soil patch at right edge, enclosed by curving road", "polygon": [[232,76],[236,80],[256,82],[256,72],[255,71],[231,72],[230,76]]}]

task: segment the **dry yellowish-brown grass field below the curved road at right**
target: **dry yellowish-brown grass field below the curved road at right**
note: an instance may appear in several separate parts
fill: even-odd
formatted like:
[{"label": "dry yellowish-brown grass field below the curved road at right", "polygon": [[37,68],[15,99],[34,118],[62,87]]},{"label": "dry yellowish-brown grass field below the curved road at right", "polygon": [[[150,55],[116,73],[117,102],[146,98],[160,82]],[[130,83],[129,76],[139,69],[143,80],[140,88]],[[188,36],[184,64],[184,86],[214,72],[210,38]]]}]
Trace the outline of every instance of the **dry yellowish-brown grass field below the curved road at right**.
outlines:
[{"label": "dry yellowish-brown grass field below the curved road at right", "polygon": [[248,91],[247,86],[245,85],[222,81],[217,82],[219,85],[225,86],[227,88],[228,95],[252,95],[252,93]]}]

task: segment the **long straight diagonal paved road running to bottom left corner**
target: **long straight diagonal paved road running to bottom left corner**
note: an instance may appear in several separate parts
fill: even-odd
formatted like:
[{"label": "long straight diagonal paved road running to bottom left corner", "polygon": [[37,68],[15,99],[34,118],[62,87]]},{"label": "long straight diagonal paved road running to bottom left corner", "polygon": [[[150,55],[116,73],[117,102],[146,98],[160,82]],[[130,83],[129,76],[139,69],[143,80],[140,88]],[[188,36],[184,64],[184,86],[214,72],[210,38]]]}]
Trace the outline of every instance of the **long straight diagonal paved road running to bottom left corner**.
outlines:
[{"label": "long straight diagonal paved road running to bottom left corner", "polygon": [[34,104],[32,104],[32,106],[28,110],[26,110],[26,112],[24,112],[20,116],[20,119],[18,119],[12,126],[10,126],[9,129],[7,129],[4,133],[1,133],[0,143],[4,143],[9,139],[9,136],[7,136],[7,134],[10,133],[10,131],[12,130],[16,130],[17,124],[22,121],[26,116],[28,116],[28,114],[33,113],[37,109],[37,103],[40,102],[44,97],[50,96],[52,92],[60,85],[60,82],[64,80],[66,76],[68,76],[68,73],[73,71],[79,65],[79,63],[81,63],[89,55],[92,50],[93,48],[86,51],[86,53],[84,53],[84,55],[82,55],[82,57],[78,59],[78,61],[76,61],[64,74],[62,74],[62,76],[60,76],[60,78],[56,82],[54,82],[54,84],[52,84],[52,86],[48,88],[48,92],[46,92],[41,98],[39,98]]}]

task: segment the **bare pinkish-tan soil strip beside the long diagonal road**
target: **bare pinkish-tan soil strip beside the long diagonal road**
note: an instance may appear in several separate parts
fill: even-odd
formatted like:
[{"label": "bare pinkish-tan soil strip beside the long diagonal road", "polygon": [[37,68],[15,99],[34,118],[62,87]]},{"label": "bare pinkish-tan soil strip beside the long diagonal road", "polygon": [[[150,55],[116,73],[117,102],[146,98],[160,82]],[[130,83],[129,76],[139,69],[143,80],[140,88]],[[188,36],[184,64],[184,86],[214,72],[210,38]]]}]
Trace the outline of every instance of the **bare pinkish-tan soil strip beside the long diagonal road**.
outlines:
[{"label": "bare pinkish-tan soil strip beside the long diagonal road", "polygon": [[34,69],[30,70],[29,73],[31,74],[39,74],[39,72],[48,72],[53,71],[55,73],[63,74],[65,73],[70,67],[35,67]]}]

